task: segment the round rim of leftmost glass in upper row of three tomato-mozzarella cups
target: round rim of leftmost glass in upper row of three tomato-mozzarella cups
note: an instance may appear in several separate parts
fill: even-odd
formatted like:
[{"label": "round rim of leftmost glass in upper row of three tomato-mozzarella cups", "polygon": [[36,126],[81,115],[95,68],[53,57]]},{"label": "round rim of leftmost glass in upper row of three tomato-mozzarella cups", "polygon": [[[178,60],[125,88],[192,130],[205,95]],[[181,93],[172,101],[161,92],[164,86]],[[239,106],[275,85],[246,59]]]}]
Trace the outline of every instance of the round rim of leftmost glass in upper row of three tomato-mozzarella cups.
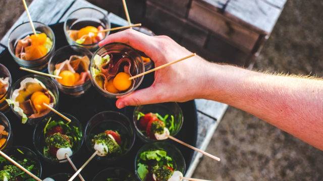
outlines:
[{"label": "round rim of leftmost glass in upper row of three tomato-mozzarella cups", "polygon": [[[80,123],[80,121],[78,119],[76,119],[74,116],[70,115],[70,114],[67,114],[67,113],[61,113],[63,114],[64,116],[71,116],[72,118],[74,118],[75,120],[71,120],[72,121],[76,121],[78,122],[79,126],[81,127],[81,132],[83,134],[83,127],[82,127],[82,124]],[[52,116],[47,116],[46,118],[48,117],[52,117]],[[46,119],[44,118],[44,119]],[[38,126],[40,126],[40,123],[42,123],[42,121],[44,120],[42,119],[41,121],[39,121],[36,126],[35,126],[35,129],[33,131],[33,136],[32,136],[32,142],[33,142],[33,145],[37,151],[38,154],[40,154],[41,157],[45,158],[45,159],[49,159],[50,161],[55,161],[55,162],[59,162],[61,163],[62,161],[65,161],[67,160],[67,158],[64,158],[64,159],[51,159],[51,158],[48,158],[46,157],[45,155],[43,155],[43,153],[41,153],[38,148],[36,147],[36,144],[35,144],[35,134],[36,134],[36,129],[38,128]],[[72,156],[70,156],[70,158],[72,159],[74,157],[74,155],[81,149],[82,145],[83,145],[83,141],[84,141],[84,137],[82,136],[82,140],[81,140],[81,144],[80,144],[80,147],[72,154]],[[63,162],[62,162],[63,163]]]}]

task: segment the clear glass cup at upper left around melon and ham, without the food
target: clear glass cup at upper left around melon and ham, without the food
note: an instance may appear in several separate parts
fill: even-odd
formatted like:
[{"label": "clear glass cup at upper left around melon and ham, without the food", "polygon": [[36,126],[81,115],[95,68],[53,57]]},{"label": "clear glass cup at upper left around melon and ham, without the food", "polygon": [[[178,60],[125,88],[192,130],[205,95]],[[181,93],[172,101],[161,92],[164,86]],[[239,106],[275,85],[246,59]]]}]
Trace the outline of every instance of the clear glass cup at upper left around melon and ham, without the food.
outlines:
[{"label": "clear glass cup at upper left around melon and ham, without the food", "polygon": [[33,22],[36,33],[45,33],[52,41],[52,47],[50,51],[43,57],[36,60],[23,60],[15,55],[16,45],[19,40],[25,38],[27,35],[33,34],[32,28],[29,22],[23,23],[16,27],[9,36],[8,49],[14,60],[21,66],[37,71],[45,71],[47,63],[51,55],[55,52],[55,35],[53,31],[45,24],[39,22]]}]

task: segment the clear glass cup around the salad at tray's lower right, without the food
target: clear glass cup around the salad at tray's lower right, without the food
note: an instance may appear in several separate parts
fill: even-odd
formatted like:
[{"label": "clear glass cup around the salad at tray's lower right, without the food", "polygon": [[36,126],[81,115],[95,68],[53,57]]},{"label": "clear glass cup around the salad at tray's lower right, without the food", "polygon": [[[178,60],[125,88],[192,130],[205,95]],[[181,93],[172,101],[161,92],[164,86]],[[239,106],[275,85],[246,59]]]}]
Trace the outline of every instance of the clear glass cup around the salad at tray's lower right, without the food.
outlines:
[{"label": "clear glass cup around the salad at tray's lower right, without the food", "polygon": [[138,180],[141,180],[137,169],[138,163],[140,163],[140,154],[145,151],[154,151],[154,150],[164,150],[167,152],[167,156],[173,159],[173,170],[178,170],[185,175],[185,160],[181,153],[181,151],[175,147],[174,145],[167,143],[167,142],[152,142],[147,143],[143,147],[140,148],[138,151],[136,158],[135,158],[135,173]]}]

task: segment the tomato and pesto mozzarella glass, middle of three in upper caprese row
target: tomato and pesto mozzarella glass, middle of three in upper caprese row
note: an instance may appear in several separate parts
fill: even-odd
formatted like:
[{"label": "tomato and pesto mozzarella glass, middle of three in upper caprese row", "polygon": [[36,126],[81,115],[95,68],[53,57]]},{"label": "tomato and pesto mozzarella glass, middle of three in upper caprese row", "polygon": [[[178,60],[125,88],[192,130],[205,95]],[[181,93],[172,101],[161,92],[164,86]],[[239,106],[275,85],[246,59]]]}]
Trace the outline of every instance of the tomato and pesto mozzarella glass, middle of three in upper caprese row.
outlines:
[{"label": "tomato and pesto mozzarella glass, middle of three in upper caprese row", "polygon": [[134,128],[121,113],[106,111],[93,116],[85,128],[85,143],[95,158],[114,161],[123,157],[135,141]]}]

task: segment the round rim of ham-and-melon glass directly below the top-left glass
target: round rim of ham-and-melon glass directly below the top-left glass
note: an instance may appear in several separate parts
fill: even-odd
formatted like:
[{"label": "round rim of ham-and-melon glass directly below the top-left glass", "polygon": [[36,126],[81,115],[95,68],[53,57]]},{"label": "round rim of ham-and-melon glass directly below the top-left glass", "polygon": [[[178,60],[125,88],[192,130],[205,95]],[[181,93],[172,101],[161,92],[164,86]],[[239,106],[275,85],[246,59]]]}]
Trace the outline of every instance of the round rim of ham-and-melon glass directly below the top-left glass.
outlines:
[{"label": "round rim of ham-and-melon glass directly below the top-left glass", "polygon": [[[15,83],[14,83],[14,85],[11,87],[11,90],[10,90],[10,97],[9,97],[9,99],[11,99],[11,97],[12,97],[12,94],[14,93],[14,87],[19,83],[20,84],[20,82],[22,81],[22,80],[24,80],[25,78],[28,78],[28,77],[31,77],[32,78],[32,76],[40,76],[40,77],[43,77],[43,78],[46,78],[46,79],[48,79],[49,81],[51,81],[51,83],[54,85],[54,87],[55,87],[55,91],[57,92],[57,99],[56,99],[56,103],[55,103],[55,105],[54,105],[54,107],[53,107],[53,109],[56,109],[56,107],[58,106],[58,104],[59,104],[59,98],[60,98],[60,93],[59,93],[59,89],[58,89],[58,87],[57,87],[57,85],[55,84],[55,82],[53,82],[49,77],[46,77],[46,76],[43,76],[43,75],[39,75],[39,74],[29,74],[29,75],[25,75],[25,76],[23,76],[23,77],[21,77],[21,78],[19,78]],[[37,78],[37,77],[33,77],[33,78]],[[39,80],[40,81],[40,80]],[[41,81],[42,82],[42,81]],[[46,87],[47,88],[47,87]],[[47,90],[48,90],[48,88],[47,88]],[[16,101],[16,100],[15,100]],[[19,118],[21,117],[22,118],[22,116],[20,116],[15,110],[14,110],[14,106],[13,106],[13,104],[11,104],[10,105],[10,108],[11,108],[11,110],[15,113],[15,115],[16,116],[18,116]],[[49,111],[49,113],[50,112],[52,112],[51,110]],[[28,122],[28,120],[31,120],[31,121],[34,121],[35,119],[44,119],[45,117],[47,117],[47,115],[49,114],[49,113],[47,113],[46,115],[44,115],[44,116],[41,116],[41,117],[38,117],[38,118],[28,118],[27,119],[27,122]]]}]

